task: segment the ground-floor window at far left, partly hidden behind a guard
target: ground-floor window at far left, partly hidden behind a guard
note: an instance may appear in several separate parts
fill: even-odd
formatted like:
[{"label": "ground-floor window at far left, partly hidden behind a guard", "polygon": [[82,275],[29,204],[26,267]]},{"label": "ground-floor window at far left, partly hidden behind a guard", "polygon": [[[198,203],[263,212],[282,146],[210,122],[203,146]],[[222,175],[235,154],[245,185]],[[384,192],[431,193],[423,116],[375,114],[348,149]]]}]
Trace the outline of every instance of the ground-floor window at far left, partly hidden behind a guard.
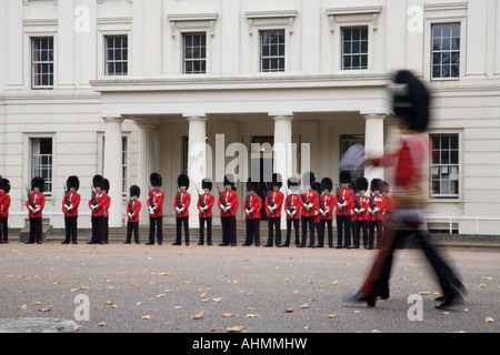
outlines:
[{"label": "ground-floor window at far left, partly hidden behind a guard", "polygon": [[31,178],[46,180],[44,194],[52,193],[52,139],[31,139]]}]

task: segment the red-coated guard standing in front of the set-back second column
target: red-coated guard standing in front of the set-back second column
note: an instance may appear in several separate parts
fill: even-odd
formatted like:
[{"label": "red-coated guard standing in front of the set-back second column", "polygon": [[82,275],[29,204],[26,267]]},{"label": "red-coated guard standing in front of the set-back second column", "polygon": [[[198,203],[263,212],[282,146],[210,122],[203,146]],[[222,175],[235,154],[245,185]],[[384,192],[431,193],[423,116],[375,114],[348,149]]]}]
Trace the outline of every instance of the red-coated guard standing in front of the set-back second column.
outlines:
[{"label": "red-coated guard standing in front of the set-back second column", "polygon": [[163,201],[164,192],[160,190],[163,181],[159,173],[152,173],[149,176],[152,190],[148,193],[149,209],[149,242],[146,245],[154,245],[154,232],[157,234],[158,245],[163,243]]}]

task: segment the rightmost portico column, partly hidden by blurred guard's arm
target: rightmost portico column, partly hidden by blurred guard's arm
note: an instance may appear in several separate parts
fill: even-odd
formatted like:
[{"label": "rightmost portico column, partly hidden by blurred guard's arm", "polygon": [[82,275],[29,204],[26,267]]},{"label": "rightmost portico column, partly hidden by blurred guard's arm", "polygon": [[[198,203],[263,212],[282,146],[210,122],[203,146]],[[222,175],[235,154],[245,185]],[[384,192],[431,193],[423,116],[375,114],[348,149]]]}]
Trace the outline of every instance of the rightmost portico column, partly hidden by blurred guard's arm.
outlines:
[{"label": "rightmost portico column, partly hidden by blurred guard's arm", "polygon": [[[368,113],[363,114],[366,119],[364,129],[364,155],[367,159],[377,158],[383,154],[383,120],[386,114]],[[384,179],[384,169],[367,166],[364,168],[364,178],[369,184],[372,179]]]}]

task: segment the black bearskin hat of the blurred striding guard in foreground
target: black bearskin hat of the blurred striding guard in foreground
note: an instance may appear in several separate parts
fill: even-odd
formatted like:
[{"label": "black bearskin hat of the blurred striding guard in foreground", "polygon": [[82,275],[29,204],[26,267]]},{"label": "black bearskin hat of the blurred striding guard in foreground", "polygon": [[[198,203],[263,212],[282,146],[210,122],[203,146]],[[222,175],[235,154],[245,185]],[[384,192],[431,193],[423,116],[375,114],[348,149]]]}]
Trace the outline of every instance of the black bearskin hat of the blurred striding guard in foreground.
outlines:
[{"label": "black bearskin hat of the blurred striding guard in foreground", "polygon": [[430,120],[430,95],[426,85],[410,71],[401,70],[390,88],[396,115],[404,119],[413,130],[424,131]]}]

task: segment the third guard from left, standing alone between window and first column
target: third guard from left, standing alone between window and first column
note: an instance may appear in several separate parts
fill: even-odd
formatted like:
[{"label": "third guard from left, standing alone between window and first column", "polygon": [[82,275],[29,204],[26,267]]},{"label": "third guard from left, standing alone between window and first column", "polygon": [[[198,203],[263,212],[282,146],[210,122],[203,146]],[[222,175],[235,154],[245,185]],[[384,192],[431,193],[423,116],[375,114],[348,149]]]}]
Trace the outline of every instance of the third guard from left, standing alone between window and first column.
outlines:
[{"label": "third guard from left, standing alone between window and first column", "polygon": [[62,213],[64,214],[66,239],[62,244],[78,244],[78,206],[81,196],[77,192],[80,189],[78,176],[69,176],[66,181],[64,196],[62,199]]}]

